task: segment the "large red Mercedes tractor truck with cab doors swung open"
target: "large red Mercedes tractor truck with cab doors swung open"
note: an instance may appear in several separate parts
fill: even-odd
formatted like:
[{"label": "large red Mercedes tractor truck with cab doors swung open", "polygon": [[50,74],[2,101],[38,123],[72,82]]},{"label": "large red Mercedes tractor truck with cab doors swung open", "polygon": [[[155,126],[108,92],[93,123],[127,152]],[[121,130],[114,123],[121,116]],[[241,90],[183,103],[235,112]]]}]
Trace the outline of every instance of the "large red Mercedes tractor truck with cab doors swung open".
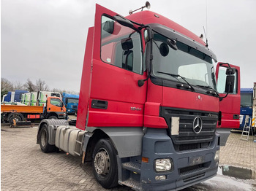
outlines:
[{"label": "large red Mercedes tractor truck with cab doors swung open", "polygon": [[92,161],[105,188],[181,190],[210,179],[219,164],[220,101],[233,103],[227,94],[240,83],[239,68],[219,63],[218,86],[227,98],[219,95],[213,61],[202,39],[162,15],[122,17],[97,4],[76,127],[42,120],[37,144],[42,152],[57,147]]}]

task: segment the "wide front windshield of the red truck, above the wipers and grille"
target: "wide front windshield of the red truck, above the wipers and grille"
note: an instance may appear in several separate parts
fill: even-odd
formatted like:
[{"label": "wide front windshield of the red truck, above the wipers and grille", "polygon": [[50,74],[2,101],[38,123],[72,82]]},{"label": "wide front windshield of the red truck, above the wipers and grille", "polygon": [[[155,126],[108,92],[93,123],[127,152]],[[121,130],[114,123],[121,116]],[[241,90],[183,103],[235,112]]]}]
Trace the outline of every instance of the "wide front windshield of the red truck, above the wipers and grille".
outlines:
[{"label": "wide front windshield of the red truck, above the wipers and grille", "polygon": [[[152,61],[154,76],[182,83],[185,83],[185,79],[190,85],[206,86],[216,90],[211,57],[187,44],[176,42],[176,45],[172,46],[173,43],[170,42],[173,41],[154,33]],[[175,46],[178,50],[175,50]]]}]

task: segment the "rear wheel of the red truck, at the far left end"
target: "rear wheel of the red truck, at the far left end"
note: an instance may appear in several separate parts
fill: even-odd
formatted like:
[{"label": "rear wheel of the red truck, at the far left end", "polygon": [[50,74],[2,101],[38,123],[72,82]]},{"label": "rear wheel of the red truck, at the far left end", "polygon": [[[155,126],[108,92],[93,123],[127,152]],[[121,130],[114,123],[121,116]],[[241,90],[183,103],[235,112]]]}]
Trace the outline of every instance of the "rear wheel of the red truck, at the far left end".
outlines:
[{"label": "rear wheel of the red truck, at the far left end", "polygon": [[42,128],[39,132],[39,144],[42,152],[45,152],[45,153],[53,152],[54,150],[56,150],[55,145],[49,144],[48,138],[49,138],[48,128],[47,128],[47,125],[44,124],[42,125]]}]

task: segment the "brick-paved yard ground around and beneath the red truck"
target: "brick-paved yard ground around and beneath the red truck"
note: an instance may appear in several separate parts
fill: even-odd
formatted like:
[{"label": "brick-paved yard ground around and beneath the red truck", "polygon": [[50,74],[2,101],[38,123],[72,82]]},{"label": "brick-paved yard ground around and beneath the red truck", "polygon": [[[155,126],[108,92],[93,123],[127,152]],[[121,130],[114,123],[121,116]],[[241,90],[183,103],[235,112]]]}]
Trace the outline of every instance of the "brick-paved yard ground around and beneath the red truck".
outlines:
[{"label": "brick-paved yard ground around and beneath the red truck", "polygon": [[[90,164],[82,166],[80,157],[64,152],[43,153],[36,136],[37,127],[1,124],[1,190],[105,190],[95,181]],[[219,165],[250,168],[255,176],[256,143],[252,136],[249,141],[240,141],[240,136],[231,133],[226,147],[221,148]],[[112,190],[130,189],[119,186]],[[256,190],[256,180],[217,175],[185,190]]]}]

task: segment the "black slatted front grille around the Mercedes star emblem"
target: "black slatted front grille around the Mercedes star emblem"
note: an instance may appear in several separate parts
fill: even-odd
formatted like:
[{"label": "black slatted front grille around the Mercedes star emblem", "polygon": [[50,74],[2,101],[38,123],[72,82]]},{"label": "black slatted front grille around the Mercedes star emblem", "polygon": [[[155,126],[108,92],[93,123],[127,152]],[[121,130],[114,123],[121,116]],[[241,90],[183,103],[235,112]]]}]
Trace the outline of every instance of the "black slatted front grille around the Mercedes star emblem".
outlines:
[{"label": "black slatted front grille around the Mercedes star emblem", "polygon": [[[169,134],[172,117],[179,117],[178,135],[170,134],[176,151],[206,148],[214,140],[218,113],[161,107],[160,117],[165,118]],[[203,122],[200,133],[195,133],[193,130],[195,117],[200,117]]]}]

